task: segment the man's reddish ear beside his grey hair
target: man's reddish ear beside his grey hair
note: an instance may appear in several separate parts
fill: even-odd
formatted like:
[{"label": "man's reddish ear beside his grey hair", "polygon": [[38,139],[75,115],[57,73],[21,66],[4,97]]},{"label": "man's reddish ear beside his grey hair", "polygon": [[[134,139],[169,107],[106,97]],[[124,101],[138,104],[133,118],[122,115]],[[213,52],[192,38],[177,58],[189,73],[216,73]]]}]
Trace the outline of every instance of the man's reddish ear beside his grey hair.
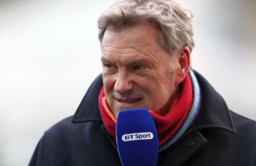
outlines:
[{"label": "man's reddish ear beside his grey hair", "polygon": [[187,46],[183,46],[183,48],[180,50],[180,52],[177,55],[177,78],[175,85],[177,86],[180,84],[186,77],[189,66],[190,66],[190,51]]}]

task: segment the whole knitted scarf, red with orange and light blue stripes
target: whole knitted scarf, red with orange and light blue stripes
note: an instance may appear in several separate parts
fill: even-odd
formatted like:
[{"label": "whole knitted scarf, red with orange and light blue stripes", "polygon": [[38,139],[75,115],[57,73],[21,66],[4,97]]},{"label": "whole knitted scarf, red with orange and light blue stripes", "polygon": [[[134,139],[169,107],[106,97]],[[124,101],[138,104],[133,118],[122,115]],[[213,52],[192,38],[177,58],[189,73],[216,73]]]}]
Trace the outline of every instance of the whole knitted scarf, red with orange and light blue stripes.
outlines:
[{"label": "whole knitted scarf, red with orange and light blue stripes", "polygon": [[[104,88],[98,98],[100,115],[106,130],[116,138],[116,118],[110,111]],[[181,92],[175,98],[164,116],[150,111],[156,125],[159,150],[166,149],[178,140],[194,122],[200,107],[200,89],[194,73],[189,70],[181,84]]]}]

